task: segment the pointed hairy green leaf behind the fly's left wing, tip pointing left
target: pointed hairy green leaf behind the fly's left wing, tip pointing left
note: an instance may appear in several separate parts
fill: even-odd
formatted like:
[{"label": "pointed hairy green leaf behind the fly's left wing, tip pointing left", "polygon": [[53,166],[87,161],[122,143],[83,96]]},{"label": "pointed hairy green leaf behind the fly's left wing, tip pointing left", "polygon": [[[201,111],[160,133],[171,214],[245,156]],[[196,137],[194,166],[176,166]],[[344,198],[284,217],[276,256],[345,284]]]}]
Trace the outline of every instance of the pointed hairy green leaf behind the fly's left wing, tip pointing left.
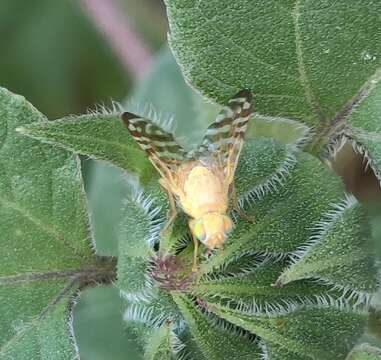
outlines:
[{"label": "pointed hairy green leaf behind the fly's left wing, tip pointing left", "polygon": [[152,176],[151,163],[129,135],[118,113],[27,124],[18,127],[17,131],[78,154],[110,161],[122,169],[138,173],[143,181]]}]

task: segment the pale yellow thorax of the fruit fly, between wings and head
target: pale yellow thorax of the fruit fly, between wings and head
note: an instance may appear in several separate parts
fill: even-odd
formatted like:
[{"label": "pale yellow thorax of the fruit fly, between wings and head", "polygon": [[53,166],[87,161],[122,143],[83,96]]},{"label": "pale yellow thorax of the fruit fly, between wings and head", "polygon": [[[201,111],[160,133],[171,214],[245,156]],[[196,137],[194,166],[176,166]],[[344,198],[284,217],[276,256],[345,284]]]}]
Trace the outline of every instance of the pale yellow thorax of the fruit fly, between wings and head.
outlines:
[{"label": "pale yellow thorax of the fruit fly, between wings and head", "polygon": [[218,174],[197,165],[187,174],[179,200],[184,211],[197,219],[208,212],[225,213],[228,194]]}]

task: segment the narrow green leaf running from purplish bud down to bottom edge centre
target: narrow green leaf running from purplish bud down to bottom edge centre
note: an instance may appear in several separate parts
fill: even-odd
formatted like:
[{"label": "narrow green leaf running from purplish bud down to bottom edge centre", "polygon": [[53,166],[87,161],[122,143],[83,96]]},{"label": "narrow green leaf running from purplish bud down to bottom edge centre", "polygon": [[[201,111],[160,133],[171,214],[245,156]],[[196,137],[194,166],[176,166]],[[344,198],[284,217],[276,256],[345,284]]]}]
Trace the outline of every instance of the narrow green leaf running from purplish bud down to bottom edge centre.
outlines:
[{"label": "narrow green leaf running from purplish bud down to bottom edge centre", "polygon": [[258,342],[247,335],[240,334],[238,329],[218,323],[201,312],[190,299],[184,295],[174,294],[189,330],[206,359],[261,359]]}]

